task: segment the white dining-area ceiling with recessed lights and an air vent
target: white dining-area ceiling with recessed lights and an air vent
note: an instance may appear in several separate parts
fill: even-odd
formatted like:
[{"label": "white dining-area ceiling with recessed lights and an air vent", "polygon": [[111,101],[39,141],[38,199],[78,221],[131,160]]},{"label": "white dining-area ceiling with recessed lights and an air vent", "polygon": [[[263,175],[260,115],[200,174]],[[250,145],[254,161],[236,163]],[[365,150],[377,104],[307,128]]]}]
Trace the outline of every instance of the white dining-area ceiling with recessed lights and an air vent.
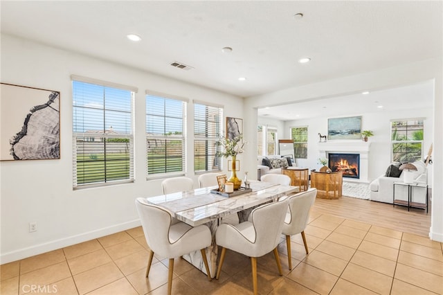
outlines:
[{"label": "white dining-area ceiling with recessed lights and an air vent", "polygon": [[442,15],[442,1],[1,1],[1,32],[247,97],[441,57]]}]

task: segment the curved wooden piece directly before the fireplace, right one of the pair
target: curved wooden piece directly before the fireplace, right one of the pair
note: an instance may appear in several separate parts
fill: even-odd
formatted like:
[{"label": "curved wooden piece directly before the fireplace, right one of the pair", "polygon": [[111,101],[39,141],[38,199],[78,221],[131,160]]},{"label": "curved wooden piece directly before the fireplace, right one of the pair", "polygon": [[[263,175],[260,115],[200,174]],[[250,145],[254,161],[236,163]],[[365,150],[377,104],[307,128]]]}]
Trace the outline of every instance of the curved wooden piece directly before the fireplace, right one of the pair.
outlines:
[{"label": "curved wooden piece directly before the fireplace, right one of the pair", "polygon": [[343,188],[343,173],[311,171],[311,188],[317,189],[320,199],[339,199]]}]

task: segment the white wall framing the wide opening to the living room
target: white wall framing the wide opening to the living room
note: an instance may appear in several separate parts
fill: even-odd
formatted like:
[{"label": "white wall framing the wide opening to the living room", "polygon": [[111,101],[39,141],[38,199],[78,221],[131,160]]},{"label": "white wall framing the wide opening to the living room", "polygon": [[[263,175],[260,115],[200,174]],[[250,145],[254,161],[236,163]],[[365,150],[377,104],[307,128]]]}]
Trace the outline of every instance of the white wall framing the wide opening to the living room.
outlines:
[{"label": "white wall framing the wide opening to the living room", "polygon": [[[435,83],[435,96],[433,107],[433,206],[431,213],[431,229],[429,236],[433,240],[443,242],[443,60],[436,58],[402,64],[387,69],[380,69],[370,73],[361,73],[349,77],[336,78],[314,84],[298,87],[290,87],[273,93],[259,96],[251,96],[244,100],[245,130],[250,132],[245,136],[252,143],[257,142],[257,132],[253,128],[257,123],[257,108],[272,105],[285,105],[292,102],[309,100],[314,98],[333,98],[350,93],[362,91],[377,91],[391,89],[403,85],[415,84],[426,80]],[[255,124],[254,126],[251,124]],[[375,130],[374,130],[375,131]],[[372,137],[374,140],[375,136]],[[370,140],[372,140],[372,138]],[[379,139],[379,138],[377,138]],[[381,139],[380,139],[381,140]],[[425,149],[428,148],[425,146]],[[246,152],[257,154],[257,147],[248,145]],[[384,162],[384,161],[383,161]],[[253,158],[246,159],[246,169],[253,169],[256,161]],[[380,164],[381,165],[381,164]],[[377,172],[372,172],[372,177]],[[438,181],[436,181],[438,180]]]}]

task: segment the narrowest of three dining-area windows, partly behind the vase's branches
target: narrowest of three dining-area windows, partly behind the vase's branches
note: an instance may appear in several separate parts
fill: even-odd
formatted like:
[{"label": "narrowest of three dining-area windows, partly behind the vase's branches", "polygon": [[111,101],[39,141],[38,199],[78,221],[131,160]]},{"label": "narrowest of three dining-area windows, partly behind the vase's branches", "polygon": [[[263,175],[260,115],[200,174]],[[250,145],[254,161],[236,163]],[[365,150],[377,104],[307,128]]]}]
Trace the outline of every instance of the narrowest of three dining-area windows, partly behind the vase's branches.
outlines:
[{"label": "narrowest of three dining-area windows, partly behind the vase's branches", "polygon": [[220,159],[215,154],[221,135],[223,109],[212,105],[194,105],[194,171],[196,173],[221,170]]}]

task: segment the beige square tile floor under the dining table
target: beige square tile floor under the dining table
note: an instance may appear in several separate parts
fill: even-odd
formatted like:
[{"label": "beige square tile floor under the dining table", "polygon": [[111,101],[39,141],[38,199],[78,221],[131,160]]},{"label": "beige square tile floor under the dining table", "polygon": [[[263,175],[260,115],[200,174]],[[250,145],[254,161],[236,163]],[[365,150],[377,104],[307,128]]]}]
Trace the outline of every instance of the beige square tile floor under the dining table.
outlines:
[{"label": "beige square tile floor under the dining table", "polygon": [[[410,233],[317,214],[278,247],[283,276],[270,253],[257,260],[260,294],[443,294],[442,243]],[[166,294],[168,260],[154,258],[141,227],[1,265],[0,294]],[[227,251],[219,280],[176,259],[173,294],[252,294],[250,260]]]}]

